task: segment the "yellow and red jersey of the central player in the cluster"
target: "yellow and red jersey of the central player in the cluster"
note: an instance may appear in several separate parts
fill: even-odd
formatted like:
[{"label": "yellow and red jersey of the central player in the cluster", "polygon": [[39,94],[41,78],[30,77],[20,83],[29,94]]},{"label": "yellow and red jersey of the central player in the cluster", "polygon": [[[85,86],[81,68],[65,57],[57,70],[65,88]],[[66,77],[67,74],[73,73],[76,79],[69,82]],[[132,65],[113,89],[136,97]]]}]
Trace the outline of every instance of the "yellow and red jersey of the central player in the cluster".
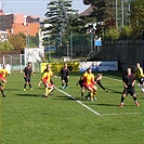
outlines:
[{"label": "yellow and red jersey of the central player in the cluster", "polygon": [[94,82],[94,75],[93,74],[88,74],[86,73],[83,76],[82,76],[82,79],[83,79],[83,82],[87,83],[87,84],[91,84]]}]

